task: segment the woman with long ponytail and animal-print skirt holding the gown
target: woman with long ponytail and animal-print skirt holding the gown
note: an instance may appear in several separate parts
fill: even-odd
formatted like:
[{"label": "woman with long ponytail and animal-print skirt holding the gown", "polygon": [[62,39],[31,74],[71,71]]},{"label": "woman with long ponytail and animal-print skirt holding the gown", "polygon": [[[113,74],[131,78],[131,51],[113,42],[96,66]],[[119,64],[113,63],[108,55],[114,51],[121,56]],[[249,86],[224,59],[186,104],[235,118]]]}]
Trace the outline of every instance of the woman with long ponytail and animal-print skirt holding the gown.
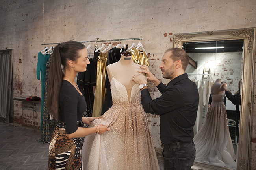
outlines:
[{"label": "woman with long ponytail and animal-print skirt holding the gown", "polygon": [[[85,46],[76,41],[58,44],[52,54],[47,106],[52,117],[58,120],[49,146],[49,169],[82,170],[80,138],[92,133],[103,134],[110,130],[98,124],[82,128],[96,117],[82,117],[86,102],[74,82],[78,72],[86,71],[90,64]],[[63,71],[61,69],[63,65]]]}]

